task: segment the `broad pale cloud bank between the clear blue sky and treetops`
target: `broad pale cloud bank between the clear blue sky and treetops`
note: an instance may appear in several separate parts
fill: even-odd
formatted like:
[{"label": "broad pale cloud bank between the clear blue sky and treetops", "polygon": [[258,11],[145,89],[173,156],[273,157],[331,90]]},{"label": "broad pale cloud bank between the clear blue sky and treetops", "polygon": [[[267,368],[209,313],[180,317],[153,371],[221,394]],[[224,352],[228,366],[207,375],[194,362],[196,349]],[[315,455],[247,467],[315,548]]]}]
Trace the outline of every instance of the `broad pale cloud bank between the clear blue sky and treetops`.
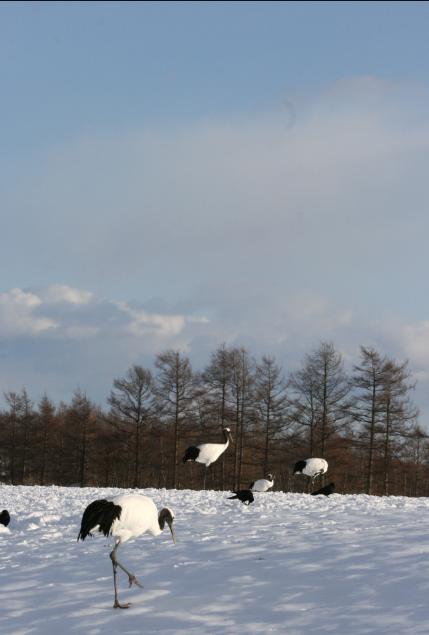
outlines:
[{"label": "broad pale cloud bank between the clear blue sky and treetops", "polygon": [[359,344],[409,357],[426,386],[427,102],[425,86],[346,79],[22,162],[1,190],[2,385],[101,395],[169,346],[201,365],[241,343],[287,367],[329,338],[350,362]]}]

